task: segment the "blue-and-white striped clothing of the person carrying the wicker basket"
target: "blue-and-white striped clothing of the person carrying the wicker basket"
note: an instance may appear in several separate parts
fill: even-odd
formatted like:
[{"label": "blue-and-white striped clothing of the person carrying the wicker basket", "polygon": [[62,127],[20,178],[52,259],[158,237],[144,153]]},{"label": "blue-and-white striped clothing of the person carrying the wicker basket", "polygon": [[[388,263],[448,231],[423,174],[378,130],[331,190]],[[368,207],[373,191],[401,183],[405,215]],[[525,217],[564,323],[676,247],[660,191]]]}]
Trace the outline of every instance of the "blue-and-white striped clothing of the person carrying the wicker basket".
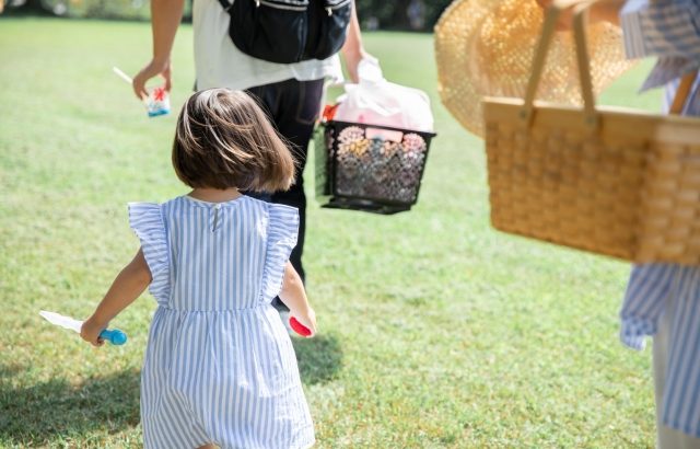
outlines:
[{"label": "blue-and-white striped clothing of the person carrying the wicker basket", "polygon": [[[629,0],[620,13],[630,58],[658,60],[642,90],[664,87],[664,111],[673,102],[679,79],[700,68],[700,0]],[[682,114],[700,116],[700,76]],[[667,309],[670,301],[675,308]],[[620,312],[621,341],[635,349],[654,335],[665,310],[670,316],[670,345],[663,404],[664,425],[700,437],[700,267],[638,265]]]}]

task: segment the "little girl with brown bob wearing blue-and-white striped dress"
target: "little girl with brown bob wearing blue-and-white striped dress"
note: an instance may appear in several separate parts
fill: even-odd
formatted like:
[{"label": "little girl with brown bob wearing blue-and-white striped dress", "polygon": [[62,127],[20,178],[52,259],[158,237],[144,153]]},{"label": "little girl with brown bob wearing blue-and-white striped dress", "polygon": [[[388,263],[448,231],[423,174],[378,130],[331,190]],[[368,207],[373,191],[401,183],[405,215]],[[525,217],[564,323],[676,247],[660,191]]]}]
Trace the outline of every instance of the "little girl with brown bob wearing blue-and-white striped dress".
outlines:
[{"label": "little girl with brown bob wearing blue-and-white striped dress", "polygon": [[294,160],[248,95],[195,93],[177,120],[177,176],[192,191],[129,205],[141,249],[81,336],[100,332],[150,284],[158,301],[141,373],[145,448],[307,448],[314,427],[278,312],[316,332],[289,255],[296,209],[240,191],[289,188]]}]

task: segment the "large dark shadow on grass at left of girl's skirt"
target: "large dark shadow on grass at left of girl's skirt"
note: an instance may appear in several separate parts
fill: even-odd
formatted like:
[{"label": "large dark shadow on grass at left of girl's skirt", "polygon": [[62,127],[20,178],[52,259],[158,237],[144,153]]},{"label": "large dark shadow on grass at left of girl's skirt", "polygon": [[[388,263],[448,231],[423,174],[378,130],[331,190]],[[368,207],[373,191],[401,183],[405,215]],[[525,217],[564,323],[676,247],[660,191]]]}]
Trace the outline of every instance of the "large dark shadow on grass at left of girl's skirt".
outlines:
[{"label": "large dark shadow on grass at left of girl's skirt", "polygon": [[139,423],[139,371],[130,370],[73,385],[57,378],[31,387],[13,387],[0,372],[0,440],[28,447],[85,435],[116,431]]}]

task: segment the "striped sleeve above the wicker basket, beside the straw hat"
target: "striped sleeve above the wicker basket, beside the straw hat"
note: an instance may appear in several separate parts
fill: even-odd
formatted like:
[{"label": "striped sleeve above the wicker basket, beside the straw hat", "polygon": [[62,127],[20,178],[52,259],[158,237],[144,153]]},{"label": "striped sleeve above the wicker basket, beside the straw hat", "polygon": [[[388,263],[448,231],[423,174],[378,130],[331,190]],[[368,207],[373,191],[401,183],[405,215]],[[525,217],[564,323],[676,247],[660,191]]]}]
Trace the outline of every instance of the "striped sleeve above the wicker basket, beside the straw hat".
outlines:
[{"label": "striped sleeve above the wicker basket, beside the straw hat", "polygon": [[628,58],[700,60],[700,0],[628,0],[620,24]]}]

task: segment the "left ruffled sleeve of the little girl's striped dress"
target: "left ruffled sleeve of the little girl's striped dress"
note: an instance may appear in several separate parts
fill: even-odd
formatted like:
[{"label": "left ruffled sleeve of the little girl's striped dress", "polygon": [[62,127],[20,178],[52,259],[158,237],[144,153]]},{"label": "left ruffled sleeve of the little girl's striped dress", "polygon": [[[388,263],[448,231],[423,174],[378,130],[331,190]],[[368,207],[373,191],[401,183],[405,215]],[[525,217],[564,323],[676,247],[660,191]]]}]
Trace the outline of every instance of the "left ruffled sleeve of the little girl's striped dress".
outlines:
[{"label": "left ruffled sleeve of the little girl's striped dress", "polygon": [[167,300],[165,289],[168,281],[168,247],[165,222],[161,205],[153,203],[129,203],[129,225],[141,241],[145,263],[151,270],[150,291],[159,300]]}]

